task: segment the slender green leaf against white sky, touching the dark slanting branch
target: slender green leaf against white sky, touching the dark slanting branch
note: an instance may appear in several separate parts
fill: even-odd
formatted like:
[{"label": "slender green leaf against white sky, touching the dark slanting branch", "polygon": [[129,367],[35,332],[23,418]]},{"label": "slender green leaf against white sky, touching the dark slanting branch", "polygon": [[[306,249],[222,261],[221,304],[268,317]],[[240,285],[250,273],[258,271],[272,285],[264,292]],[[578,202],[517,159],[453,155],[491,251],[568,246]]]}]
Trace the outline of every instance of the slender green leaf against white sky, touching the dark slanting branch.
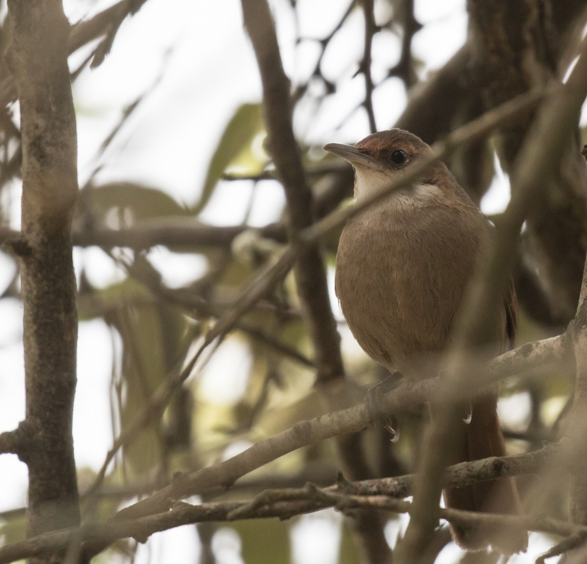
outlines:
[{"label": "slender green leaf against white sky, touching the dark slanting branch", "polygon": [[199,214],[210,200],[218,180],[235,158],[241,156],[255,135],[262,130],[261,104],[242,104],[228,122],[208,167],[200,201],[192,212]]}]

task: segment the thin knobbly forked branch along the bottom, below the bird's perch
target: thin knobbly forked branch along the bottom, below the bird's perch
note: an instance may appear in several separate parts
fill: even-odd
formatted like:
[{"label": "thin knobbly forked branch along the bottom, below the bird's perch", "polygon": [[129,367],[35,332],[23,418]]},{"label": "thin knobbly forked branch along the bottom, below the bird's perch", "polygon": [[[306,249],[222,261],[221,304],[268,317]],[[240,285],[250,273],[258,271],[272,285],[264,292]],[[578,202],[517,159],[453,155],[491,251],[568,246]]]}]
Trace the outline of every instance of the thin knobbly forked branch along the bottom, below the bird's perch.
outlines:
[{"label": "thin knobbly forked branch along the bottom, below the bird's perch", "polygon": [[[533,474],[541,468],[545,460],[555,457],[557,452],[558,447],[552,445],[530,454],[463,462],[447,468],[443,482],[447,486],[470,485],[497,477]],[[251,501],[224,501],[201,505],[178,503],[169,511],[139,519],[86,525],[79,529],[70,528],[4,546],[0,548],[0,564],[29,556],[50,555],[65,548],[74,537],[82,542],[100,542],[104,545],[126,537],[144,542],[154,532],[185,524],[267,517],[286,519],[331,506],[345,512],[356,508],[406,512],[410,511],[410,504],[397,498],[410,494],[413,480],[413,475],[406,475],[365,482],[340,482],[321,489],[308,484],[301,489],[266,490]],[[471,526],[481,519],[485,523],[505,522],[508,526],[562,536],[587,532],[585,526],[573,526],[564,521],[540,517],[480,515],[454,509],[442,510],[441,516],[448,521],[466,526]]]}]

